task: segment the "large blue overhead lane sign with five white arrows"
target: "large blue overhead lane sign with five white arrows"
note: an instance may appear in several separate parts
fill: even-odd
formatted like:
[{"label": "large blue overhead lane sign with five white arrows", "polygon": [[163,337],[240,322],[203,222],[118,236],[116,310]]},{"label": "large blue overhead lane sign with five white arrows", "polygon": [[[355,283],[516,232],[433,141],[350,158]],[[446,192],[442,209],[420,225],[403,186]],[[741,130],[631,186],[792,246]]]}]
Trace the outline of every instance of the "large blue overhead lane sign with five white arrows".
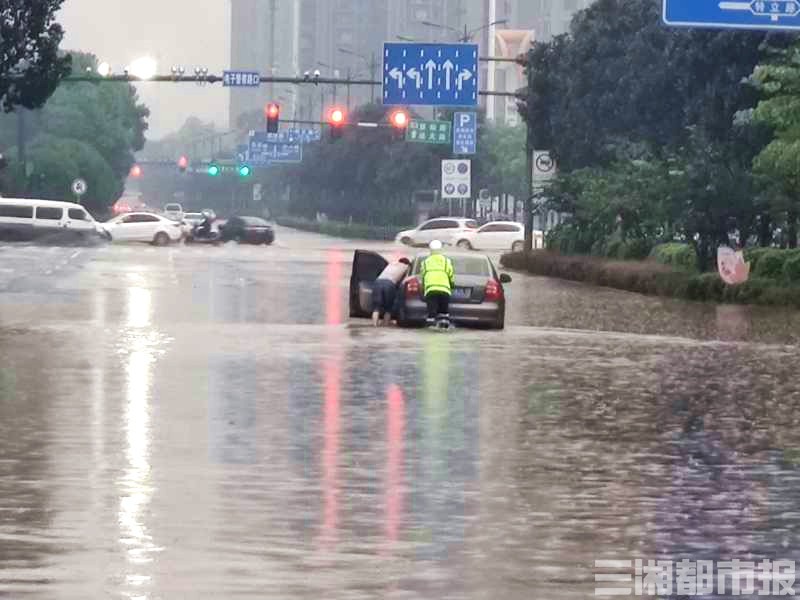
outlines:
[{"label": "large blue overhead lane sign with five white arrows", "polygon": [[477,44],[383,45],[383,103],[477,106]]}]

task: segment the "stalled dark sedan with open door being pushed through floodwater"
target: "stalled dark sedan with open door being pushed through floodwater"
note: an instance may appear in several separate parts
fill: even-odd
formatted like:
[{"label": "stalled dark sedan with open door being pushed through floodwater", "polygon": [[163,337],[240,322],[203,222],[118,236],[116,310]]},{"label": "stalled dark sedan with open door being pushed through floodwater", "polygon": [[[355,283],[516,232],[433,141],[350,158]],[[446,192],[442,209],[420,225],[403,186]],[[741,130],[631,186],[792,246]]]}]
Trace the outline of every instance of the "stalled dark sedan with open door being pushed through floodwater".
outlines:
[{"label": "stalled dark sedan with open door being pushed through floodwater", "polygon": [[[428,308],[422,296],[419,276],[427,253],[417,256],[408,277],[400,286],[395,317],[402,327],[425,324]],[[456,324],[481,325],[492,329],[505,327],[506,300],[503,284],[510,283],[506,273],[498,274],[488,256],[476,253],[448,252],[456,272],[456,285],[450,300],[450,318]],[[376,252],[356,250],[350,276],[350,316],[368,318],[372,314],[372,285],[387,265]]]}]

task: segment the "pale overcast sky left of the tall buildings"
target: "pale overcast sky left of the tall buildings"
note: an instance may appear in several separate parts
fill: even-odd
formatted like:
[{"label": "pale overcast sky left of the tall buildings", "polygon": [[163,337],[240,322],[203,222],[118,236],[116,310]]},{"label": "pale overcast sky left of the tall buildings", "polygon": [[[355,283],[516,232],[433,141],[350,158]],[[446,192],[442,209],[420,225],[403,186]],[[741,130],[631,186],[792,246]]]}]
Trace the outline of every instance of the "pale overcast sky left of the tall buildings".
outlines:
[{"label": "pale overcast sky left of the tall buildings", "polygon": [[[163,73],[172,65],[219,73],[229,63],[229,0],[66,0],[58,20],[66,30],[62,48],[92,52],[116,72],[143,55],[156,58]],[[227,126],[228,93],[220,84],[138,87],[152,113],[151,138],[174,131],[190,115]]]}]

